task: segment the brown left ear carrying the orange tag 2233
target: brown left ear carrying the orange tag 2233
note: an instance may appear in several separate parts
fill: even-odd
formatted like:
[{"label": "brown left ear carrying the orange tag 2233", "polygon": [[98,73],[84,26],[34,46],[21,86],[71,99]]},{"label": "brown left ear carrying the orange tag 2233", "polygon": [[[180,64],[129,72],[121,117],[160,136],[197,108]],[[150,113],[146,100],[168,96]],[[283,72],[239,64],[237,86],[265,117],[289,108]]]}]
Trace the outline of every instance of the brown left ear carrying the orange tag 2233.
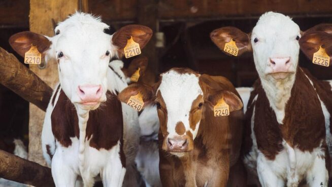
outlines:
[{"label": "brown left ear carrying the orange tag 2233", "polygon": [[[236,46],[239,48],[238,55],[241,55],[247,51],[252,51],[250,43],[250,35],[242,32],[239,28],[226,26],[213,30],[210,34],[210,38],[221,51],[224,52],[225,44],[234,40]],[[224,52],[225,54],[228,54]]]}]

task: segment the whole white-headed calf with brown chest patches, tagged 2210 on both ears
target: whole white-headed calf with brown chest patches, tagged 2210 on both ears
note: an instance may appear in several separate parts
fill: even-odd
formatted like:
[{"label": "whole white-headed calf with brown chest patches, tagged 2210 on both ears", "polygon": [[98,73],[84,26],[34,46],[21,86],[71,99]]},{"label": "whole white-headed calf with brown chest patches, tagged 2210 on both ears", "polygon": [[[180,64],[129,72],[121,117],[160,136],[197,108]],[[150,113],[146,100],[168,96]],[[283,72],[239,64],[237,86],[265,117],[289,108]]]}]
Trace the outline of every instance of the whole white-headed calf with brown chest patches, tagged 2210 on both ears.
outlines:
[{"label": "whole white-headed calf with brown chest patches, tagged 2210 on both ears", "polygon": [[54,37],[23,32],[10,38],[20,55],[33,45],[47,63],[55,59],[58,64],[60,83],[42,132],[44,157],[56,186],[74,186],[78,176],[84,186],[93,186],[97,175],[104,186],[121,186],[126,166],[134,163],[138,115],[117,100],[127,83],[108,67],[110,57],[123,55],[128,39],[143,48],[152,31],[128,25],[110,36],[104,33],[108,27],[99,18],[75,13],[58,24]]}]

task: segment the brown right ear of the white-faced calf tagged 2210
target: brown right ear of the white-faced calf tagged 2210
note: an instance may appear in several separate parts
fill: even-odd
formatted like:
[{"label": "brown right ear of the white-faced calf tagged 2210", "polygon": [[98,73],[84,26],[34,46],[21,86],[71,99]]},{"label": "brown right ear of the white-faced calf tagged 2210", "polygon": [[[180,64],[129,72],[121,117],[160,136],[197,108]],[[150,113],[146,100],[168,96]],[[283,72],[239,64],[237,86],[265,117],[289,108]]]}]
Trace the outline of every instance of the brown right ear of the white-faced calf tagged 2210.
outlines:
[{"label": "brown right ear of the white-faced calf tagged 2210", "polygon": [[118,54],[124,55],[123,48],[127,45],[128,39],[132,37],[143,49],[152,36],[151,28],[143,25],[126,25],[121,27],[112,37],[113,45],[118,47]]}]

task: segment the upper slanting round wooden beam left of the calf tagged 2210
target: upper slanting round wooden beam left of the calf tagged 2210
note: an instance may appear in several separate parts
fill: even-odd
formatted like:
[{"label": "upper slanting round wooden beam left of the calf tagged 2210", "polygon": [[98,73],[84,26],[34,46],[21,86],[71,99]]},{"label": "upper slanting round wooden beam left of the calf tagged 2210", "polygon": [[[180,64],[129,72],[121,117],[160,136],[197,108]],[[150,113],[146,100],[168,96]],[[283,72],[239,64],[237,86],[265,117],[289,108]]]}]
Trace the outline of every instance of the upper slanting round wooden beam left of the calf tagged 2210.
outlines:
[{"label": "upper slanting round wooden beam left of the calf tagged 2210", "polygon": [[11,53],[0,47],[0,83],[46,111],[52,88]]}]

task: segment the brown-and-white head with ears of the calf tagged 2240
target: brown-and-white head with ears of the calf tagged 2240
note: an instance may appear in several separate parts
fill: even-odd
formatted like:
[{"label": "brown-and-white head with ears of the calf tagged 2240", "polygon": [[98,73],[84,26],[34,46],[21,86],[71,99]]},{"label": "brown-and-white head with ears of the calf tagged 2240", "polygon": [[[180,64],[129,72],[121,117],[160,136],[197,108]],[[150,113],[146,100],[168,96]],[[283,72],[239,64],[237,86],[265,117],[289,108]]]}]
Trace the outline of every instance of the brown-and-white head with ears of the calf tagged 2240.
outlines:
[{"label": "brown-and-white head with ears of the calf tagged 2240", "polygon": [[[160,75],[154,86],[132,84],[119,93],[119,100],[127,102],[139,92],[144,106],[157,105],[160,132],[163,135],[162,149],[172,154],[193,149],[193,140],[200,128],[201,119],[213,116],[213,106],[221,98],[229,110],[240,110],[241,100],[230,91],[211,87],[206,77],[190,69],[173,68]],[[212,114],[205,116],[206,111]]]}]

